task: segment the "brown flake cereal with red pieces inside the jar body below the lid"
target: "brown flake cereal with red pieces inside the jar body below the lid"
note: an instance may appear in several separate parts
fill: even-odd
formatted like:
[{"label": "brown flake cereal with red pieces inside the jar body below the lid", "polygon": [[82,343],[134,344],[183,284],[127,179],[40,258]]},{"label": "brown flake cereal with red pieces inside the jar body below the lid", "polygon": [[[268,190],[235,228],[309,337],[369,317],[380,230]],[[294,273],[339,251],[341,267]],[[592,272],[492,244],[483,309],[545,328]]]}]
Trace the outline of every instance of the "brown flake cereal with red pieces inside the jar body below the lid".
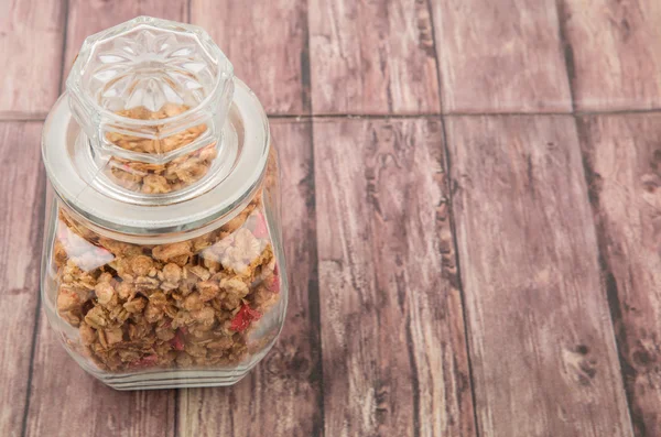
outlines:
[{"label": "brown flake cereal with red pieces inside the jar body below the lid", "polygon": [[101,369],[236,364],[280,297],[260,189],[232,220],[203,236],[138,245],[102,237],[58,211],[57,313]]}]

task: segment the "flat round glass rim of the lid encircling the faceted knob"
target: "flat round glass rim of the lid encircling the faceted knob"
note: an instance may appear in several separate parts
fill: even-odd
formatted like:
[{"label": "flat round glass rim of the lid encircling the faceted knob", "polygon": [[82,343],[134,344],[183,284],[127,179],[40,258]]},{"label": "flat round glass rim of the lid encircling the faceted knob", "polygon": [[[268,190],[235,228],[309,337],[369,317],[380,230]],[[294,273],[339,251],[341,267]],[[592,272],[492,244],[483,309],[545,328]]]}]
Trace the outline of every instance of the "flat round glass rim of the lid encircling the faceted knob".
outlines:
[{"label": "flat round glass rim of the lid encircling the faceted knob", "polygon": [[251,197],[266,172],[270,149],[268,118],[254,92],[238,78],[223,129],[236,136],[239,151],[229,173],[210,175],[206,190],[199,195],[161,205],[121,201],[90,184],[90,177],[98,175],[80,174],[80,157],[74,148],[82,128],[72,114],[66,92],[44,123],[42,156],[57,196],[91,223],[132,236],[187,232],[229,220],[231,212]]}]

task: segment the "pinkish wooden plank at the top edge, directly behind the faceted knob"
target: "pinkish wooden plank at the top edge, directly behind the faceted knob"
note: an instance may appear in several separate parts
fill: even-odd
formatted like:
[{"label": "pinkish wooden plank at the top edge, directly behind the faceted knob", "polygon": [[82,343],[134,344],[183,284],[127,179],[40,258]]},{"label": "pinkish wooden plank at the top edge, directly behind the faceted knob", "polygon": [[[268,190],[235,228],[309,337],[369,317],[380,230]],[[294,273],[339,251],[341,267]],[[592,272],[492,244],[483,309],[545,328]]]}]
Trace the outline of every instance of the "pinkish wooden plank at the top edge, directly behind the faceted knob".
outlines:
[{"label": "pinkish wooden plank at the top edge, directly behind the faceted knob", "polygon": [[138,15],[188,21],[187,0],[69,0],[64,78],[85,39]]}]

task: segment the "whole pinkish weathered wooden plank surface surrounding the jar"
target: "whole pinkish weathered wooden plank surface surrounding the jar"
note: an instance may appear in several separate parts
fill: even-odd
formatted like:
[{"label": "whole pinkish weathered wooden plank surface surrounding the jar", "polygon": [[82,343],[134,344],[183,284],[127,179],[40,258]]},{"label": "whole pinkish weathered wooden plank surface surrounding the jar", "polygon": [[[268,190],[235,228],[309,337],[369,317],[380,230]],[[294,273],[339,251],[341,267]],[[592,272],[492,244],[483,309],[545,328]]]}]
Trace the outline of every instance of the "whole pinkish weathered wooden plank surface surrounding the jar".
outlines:
[{"label": "whole pinkish weathered wooden plank surface surrounding the jar", "polygon": [[[281,154],[292,283],[230,389],[116,392],[39,302],[84,37],[206,28]],[[661,436],[659,0],[0,0],[1,436]]]}]

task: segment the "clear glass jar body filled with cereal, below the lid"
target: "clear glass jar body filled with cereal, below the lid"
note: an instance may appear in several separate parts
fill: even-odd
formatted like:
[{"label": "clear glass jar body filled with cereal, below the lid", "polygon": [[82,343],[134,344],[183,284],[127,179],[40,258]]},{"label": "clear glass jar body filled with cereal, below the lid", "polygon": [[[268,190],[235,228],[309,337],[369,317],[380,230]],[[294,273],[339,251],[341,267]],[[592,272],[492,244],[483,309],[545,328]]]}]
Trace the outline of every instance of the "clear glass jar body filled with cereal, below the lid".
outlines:
[{"label": "clear glass jar body filled with cereal, below the lid", "polygon": [[246,375],[286,309],[278,177],[271,148],[259,186],[217,225],[140,239],[106,231],[55,196],[42,299],[68,353],[119,390],[230,385]]}]

